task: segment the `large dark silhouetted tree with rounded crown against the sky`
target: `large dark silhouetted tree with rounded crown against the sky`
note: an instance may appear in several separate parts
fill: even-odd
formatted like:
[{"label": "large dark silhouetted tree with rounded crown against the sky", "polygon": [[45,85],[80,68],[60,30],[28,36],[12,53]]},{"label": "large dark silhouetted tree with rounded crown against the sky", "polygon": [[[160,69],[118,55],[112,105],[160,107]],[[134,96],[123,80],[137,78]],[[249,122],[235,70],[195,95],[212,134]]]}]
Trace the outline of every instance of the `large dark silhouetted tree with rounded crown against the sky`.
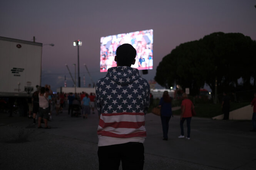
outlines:
[{"label": "large dark silhouetted tree with rounded crown against the sky", "polygon": [[256,41],[241,33],[212,33],[167,54],[157,66],[155,80],[164,87],[189,87],[191,95],[199,94],[205,83],[214,92],[216,79],[218,91],[233,91],[239,78],[244,85],[254,78],[255,87],[255,49]]}]

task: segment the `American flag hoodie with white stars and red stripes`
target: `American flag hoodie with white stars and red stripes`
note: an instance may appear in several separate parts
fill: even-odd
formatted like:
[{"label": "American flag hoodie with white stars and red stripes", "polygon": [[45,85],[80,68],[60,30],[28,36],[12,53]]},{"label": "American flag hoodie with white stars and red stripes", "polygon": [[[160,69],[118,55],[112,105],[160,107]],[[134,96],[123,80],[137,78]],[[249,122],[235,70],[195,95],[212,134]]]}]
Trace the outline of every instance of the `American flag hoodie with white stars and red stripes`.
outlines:
[{"label": "American flag hoodie with white stars and red stripes", "polygon": [[100,115],[98,146],[144,143],[145,114],[150,87],[136,68],[117,66],[97,81],[96,106]]}]

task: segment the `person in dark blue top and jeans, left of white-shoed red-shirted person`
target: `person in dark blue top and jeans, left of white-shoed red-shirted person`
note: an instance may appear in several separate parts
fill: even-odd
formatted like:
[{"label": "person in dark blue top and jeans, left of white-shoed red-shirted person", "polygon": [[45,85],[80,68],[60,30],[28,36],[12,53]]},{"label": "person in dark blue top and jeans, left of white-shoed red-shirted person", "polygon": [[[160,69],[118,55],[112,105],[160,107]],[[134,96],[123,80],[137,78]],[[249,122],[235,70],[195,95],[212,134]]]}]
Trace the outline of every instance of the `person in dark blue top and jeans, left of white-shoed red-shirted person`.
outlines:
[{"label": "person in dark blue top and jeans, left of white-shoed red-shirted person", "polygon": [[168,91],[164,91],[160,99],[159,107],[161,107],[161,122],[163,130],[163,140],[168,140],[169,120],[172,116],[172,97],[169,96]]}]

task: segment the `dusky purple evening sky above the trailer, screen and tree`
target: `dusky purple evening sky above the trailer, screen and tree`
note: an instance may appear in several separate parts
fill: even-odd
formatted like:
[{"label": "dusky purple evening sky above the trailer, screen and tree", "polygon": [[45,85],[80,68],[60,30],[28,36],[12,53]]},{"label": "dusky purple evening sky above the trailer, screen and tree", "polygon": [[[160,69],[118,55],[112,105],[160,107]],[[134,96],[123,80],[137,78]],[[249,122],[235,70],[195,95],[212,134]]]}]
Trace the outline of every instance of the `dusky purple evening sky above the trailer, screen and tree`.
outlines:
[{"label": "dusky purple evening sky above the trailer, screen and tree", "polygon": [[[74,77],[77,64],[74,40],[83,42],[80,50],[81,87],[90,83],[86,63],[96,82],[100,73],[100,37],[132,31],[154,30],[153,70],[142,75],[154,79],[156,67],[176,46],[222,31],[243,33],[256,40],[255,0],[5,0],[0,1],[0,36],[55,46],[43,46],[42,85],[54,91],[72,87],[65,66]],[[1,57],[1,56],[0,56]]]}]

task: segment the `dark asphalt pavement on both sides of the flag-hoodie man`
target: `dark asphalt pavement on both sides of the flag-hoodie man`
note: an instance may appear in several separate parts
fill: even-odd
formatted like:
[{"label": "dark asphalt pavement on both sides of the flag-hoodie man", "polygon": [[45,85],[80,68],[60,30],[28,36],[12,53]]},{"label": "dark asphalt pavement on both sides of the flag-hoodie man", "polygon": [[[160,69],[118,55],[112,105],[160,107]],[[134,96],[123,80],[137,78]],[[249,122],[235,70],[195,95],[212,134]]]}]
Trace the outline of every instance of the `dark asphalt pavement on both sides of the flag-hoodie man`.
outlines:
[{"label": "dark asphalt pavement on both sides of the flag-hoodie man", "polygon": [[[98,169],[97,114],[82,119],[69,117],[65,110],[53,116],[52,129],[37,129],[32,121],[0,114],[1,170]],[[144,170],[256,169],[251,121],[193,117],[190,140],[177,138],[179,116],[172,117],[169,125],[169,140],[164,141],[160,117],[146,115]]]}]

